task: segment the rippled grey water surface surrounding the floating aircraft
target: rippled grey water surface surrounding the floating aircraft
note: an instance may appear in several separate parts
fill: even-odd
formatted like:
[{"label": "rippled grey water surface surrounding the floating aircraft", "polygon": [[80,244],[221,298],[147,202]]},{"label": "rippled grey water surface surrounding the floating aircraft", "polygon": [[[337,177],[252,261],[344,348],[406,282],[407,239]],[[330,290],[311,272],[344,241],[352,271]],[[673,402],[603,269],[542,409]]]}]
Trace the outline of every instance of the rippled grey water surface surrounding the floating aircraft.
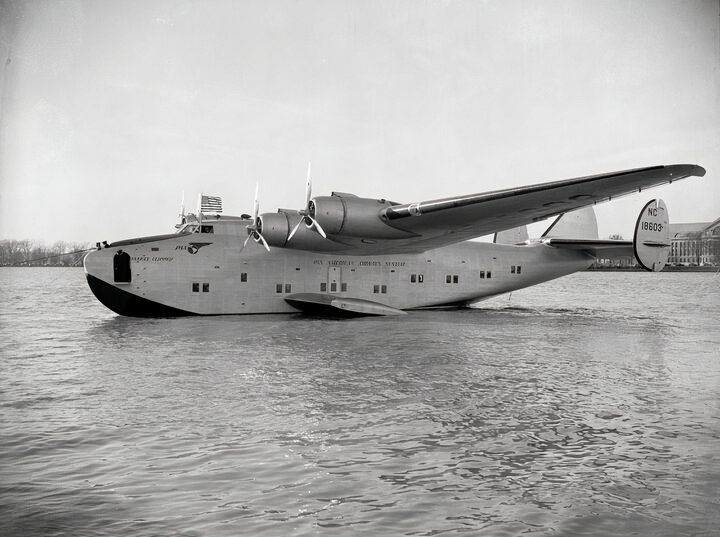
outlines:
[{"label": "rippled grey water surface surrounding the floating aircraft", "polygon": [[6,533],[717,534],[712,274],[343,321],[122,318],[58,274],[0,269]]}]

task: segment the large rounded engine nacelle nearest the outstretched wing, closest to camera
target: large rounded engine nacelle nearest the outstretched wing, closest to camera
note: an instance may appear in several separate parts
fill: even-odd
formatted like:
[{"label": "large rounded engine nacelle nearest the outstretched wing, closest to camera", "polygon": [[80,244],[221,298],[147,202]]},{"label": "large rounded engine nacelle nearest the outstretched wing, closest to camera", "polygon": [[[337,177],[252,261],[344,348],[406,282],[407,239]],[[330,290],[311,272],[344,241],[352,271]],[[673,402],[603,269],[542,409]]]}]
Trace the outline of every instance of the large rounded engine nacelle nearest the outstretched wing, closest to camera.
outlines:
[{"label": "large rounded engine nacelle nearest the outstretched wing, closest to camera", "polygon": [[391,227],[381,218],[381,211],[390,206],[392,203],[387,200],[333,193],[332,196],[313,198],[310,201],[310,216],[328,235],[368,239],[412,237],[412,233]]}]

